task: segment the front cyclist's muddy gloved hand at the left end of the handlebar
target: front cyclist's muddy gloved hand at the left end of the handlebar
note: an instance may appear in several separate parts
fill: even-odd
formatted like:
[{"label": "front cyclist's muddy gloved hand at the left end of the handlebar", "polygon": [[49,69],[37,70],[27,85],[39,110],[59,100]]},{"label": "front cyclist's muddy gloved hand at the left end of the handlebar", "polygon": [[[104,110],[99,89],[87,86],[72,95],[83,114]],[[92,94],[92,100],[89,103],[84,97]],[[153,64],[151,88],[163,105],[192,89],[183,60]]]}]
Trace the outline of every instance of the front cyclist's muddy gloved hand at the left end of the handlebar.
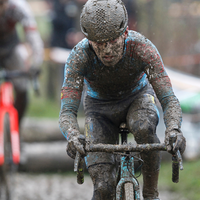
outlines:
[{"label": "front cyclist's muddy gloved hand at the left end of the handlebar", "polygon": [[76,157],[77,151],[82,156],[85,156],[84,143],[85,136],[81,135],[80,133],[71,133],[67,143],[67,154],[73,159]]}]

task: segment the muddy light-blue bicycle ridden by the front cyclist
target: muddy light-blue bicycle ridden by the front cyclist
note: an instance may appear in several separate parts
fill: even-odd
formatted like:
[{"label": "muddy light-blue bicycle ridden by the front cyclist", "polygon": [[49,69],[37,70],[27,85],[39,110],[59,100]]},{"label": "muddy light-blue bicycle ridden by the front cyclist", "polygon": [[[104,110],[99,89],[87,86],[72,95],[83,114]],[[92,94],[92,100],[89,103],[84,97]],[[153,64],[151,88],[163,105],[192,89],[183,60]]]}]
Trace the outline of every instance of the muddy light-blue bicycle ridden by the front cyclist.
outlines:
[{"label": "muddy light-blue bicycle ridden by the front cyclist", "polygon": [[[129,131],[126,124],[120,126],[121,145],[112,144],[92,144],[86,140],[86,152],[107,152],[120,154],[120,180],[116,187],[116,200],[140,200],[140,187],[137,177],[135,176],[134,159],[135,155],[131,152],[145,152],[145,151],[167,151],[165,144],[128,144],[127,135]],[[171,137],[172,142],[175,137]],[[141,159],[140,159],[141,160]],[[183,170],[182,157],[179,151],[172,155],[172,181],[179,182],[179,168]],[[74,172],[77,173],[77,182],[83,184],[84,182],[84,159],[80,153],[76,153],[74,161]]]}]

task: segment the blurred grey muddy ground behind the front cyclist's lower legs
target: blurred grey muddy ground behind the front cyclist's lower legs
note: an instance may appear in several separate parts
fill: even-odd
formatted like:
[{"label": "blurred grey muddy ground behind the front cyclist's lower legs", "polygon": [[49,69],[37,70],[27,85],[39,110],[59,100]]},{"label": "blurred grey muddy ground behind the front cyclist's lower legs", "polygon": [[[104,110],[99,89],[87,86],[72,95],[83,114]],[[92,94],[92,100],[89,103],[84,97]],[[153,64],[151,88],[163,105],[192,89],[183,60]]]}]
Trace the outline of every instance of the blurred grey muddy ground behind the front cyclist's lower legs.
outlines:
[{"label": "blurred grey muddy ground behind the front cyclist's lower legs", "polygon": [[[93,190],[88,176],[83,185],[78,185],[73,175],[18,173],[15,183],[14,200],[90,200]],[[187,200],[163,189],[160,190],[160,198]]]}]

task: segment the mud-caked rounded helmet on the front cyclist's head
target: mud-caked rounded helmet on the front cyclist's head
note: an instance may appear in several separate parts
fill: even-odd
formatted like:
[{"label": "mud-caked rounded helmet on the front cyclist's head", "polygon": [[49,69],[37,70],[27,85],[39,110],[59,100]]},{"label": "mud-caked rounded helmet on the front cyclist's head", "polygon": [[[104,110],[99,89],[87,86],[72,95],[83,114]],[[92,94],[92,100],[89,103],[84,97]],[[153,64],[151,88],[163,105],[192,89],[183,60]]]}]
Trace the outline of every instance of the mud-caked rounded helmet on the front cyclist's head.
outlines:
[{"label": "mud-caked rounded helmet on the front cyclist's head", "polygon": [[127,24],[128,14],[121,0],[88,0],[80,16],[81,31],[98,43],[115,40]]}]

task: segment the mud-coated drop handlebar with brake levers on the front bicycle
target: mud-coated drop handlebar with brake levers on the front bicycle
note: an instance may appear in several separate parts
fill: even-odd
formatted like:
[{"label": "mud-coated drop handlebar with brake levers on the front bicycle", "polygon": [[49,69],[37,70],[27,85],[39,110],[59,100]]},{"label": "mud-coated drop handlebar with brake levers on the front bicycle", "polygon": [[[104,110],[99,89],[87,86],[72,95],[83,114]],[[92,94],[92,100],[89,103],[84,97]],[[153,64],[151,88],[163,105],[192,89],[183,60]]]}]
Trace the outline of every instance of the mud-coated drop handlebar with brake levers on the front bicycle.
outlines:
[{"label": "mud-coated drop handlebar with brake levers on the front bicycle", "polygon": [[[154,144],[126,144],[126,145],[113,145],[113,144],[92,144],[86,143],[86,152],[146,152],[146,151],[167,151],[166,145],[164,143],[154,143]],[[83,174],[83,158],[77,151],[74,160],[74,172],[77,172],[77,182],[82,184],[84,182]],[[182,156],[178,150],[175,154],[172,154],[172,181],[178,183],[179,181],[179,168],[183,170]]]}]

